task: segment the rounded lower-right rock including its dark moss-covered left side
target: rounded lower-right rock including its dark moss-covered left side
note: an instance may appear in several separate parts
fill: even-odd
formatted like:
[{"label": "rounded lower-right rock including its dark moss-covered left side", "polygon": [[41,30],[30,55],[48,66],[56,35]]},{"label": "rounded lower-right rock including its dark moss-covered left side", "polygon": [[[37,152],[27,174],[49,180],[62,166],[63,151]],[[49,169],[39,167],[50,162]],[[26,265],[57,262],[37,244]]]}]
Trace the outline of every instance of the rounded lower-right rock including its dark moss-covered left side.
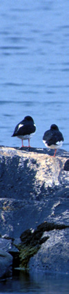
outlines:
[{"label": "rounded lower-right rock including its dark moss-covered left side", "polygon": [[[21,266],[21,268],[24,267],[27,269],[29,264],[30,269],[32,268],[34,268],[34,270],[37,270],[37,269],[50,270],[51,269],[51,271],[57,271],[57,272],[59,269],[59,271],[61,272],[61,266],[62,266],[61,260],[63,259],[63,265],[65,265],[65,268],[68,271],[69,270],[67,266],[68,265],[68,256],[67,256],[68,246],[66,245],[66,242],[64,240],[65,236],[66,238],[68,238],[68,235],[66,235],[66,231],[65,231],[66,229],[69,229],[69,226],[66,226],[63,224],[55,224],[52,222],[51,223],[43,222],[42,224],[37,226],[37,229],[34,231],[26,230],[23,234],[21,234],[21,244],[17,246],[17,248],[19,249],[19,266]],[[57,233],[57,230],[61,232]],[[54,231],[53,238],[52,238],[52,233],[51,234],[46,233],[50,231]],[[44,235],[43,235],[43,232],[45,232]],[[49,238],[50,240],[48,240]],[[64,240],[64,247],[63,247],[63,240]],[[43,243],[45,243],[45,245],[41,246]],[[57,251],[57,247],[59,247],[58,251]],[[66,250],[66,247],[67,247],[67,250]],[[46,256],[47,248],[48,248],[48,251],[50,251],[50,255],[49,255],[49,258],[47,258],[46,260],[46,258],[45,257],[43,258],[43,256]],[[65,254],[64,250],[67,251],[65,261],[64,261],[64,258],[62,258],[63,254],[61,255],[61,258],[59,258],[60,248],[63,254]],[[34,256],[35,254],[36,256]],[[55,254],[55,258],[53,258],[53,268],[52,268],[51,259],[52,259],[52,255],[54,254]],[[34,257],[32,258],[32,256]],[[56,264],[57,256],[59,258],[58,264]]]}]

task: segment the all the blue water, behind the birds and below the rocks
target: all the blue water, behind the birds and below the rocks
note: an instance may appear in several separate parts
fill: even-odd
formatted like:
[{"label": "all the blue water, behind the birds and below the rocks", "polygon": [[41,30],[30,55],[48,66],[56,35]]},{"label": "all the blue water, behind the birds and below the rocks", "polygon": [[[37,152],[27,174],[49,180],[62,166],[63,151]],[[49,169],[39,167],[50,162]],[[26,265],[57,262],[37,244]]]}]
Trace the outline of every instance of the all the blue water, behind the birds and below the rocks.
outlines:
[{"label": "all the blue water, behind the birds and below the rocks", "polygon": [[[32,147],[45,148],[43,134],[55,123],[68,151],[68,114],[69,1],[0,1],[0,145],[20,148],[21,140],[11,136],[30,115],[36,125]],[[5,292],[67,294],[68,277],[19,272],[1,282]]]}]

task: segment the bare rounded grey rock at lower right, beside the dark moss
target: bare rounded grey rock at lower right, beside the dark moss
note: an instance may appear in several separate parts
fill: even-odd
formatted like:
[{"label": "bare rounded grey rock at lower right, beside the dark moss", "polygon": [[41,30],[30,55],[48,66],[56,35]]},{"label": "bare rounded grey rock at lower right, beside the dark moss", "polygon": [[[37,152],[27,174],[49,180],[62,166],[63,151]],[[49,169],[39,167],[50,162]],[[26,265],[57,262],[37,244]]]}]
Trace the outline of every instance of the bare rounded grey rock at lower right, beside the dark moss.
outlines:
[{"label": "bare rounded grey rock at lower right, beside the dark moss", "polygon": [[[69,273],[69,255],[68,255],[68,235],[69,230],[50,231],[46,242],[36,255],[30,258],[28,266],[30,270]],[[44,233],[43,236],[47,236]]]}]

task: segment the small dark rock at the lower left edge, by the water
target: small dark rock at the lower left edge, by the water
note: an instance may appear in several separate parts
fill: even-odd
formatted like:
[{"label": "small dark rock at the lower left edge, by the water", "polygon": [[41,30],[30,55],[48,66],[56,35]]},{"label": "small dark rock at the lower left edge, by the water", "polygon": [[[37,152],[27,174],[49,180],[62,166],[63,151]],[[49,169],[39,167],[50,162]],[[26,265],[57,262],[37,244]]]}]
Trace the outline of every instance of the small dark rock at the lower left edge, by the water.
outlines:
[{"label": "small dark rock at the lower left edge, by the water", "polygon": [[12,274],[12,256],[0,249],[0,278],[10,277]]}]

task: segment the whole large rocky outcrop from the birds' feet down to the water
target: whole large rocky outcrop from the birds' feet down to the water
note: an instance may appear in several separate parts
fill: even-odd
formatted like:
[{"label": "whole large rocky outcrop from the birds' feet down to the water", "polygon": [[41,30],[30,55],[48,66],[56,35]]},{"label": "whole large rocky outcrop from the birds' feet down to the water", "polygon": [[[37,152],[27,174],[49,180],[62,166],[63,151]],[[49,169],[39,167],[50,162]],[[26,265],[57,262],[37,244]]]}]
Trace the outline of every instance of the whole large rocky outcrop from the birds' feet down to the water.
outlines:
[{"label": "whole large rocky outcrop from the birds' feet down to the water", "polygon": [[[68,272],[69,175],[64,169],[68,153],[58,150],[56,157],[50,154],[46,148],[0,148],[0,244],[3,249],[6,242],[5,252],[18,258],[14,266],[22,265],[27,247],[24,264],[30,269],[61,272],[63,265],[64,272]],[[46,222],[55,227],[49,233],[41,227],[40,236],[38,227]],[[56,225],[63,229],[57,230]],[[36,245],[35,240],[33,245],[30,242],[33,230],[39,238]],[[25,231],[23,245],[20,236],[26,235]]]}]

